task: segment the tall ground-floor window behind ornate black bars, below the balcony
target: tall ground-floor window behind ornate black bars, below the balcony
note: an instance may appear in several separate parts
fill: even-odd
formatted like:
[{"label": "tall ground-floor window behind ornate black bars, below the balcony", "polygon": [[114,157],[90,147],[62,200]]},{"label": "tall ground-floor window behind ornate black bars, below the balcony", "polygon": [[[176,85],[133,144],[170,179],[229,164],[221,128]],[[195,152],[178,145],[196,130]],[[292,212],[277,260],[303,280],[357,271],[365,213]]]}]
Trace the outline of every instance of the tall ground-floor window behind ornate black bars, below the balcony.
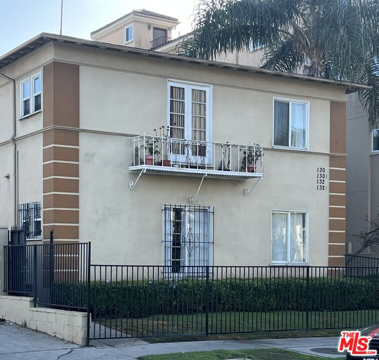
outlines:
[{"label": "tall ground-floor window behind ornate black bars, below the balcony", "polygon": [[213,207],[163,205],[163,264],[166,276],[206,273],[213,265]]}]

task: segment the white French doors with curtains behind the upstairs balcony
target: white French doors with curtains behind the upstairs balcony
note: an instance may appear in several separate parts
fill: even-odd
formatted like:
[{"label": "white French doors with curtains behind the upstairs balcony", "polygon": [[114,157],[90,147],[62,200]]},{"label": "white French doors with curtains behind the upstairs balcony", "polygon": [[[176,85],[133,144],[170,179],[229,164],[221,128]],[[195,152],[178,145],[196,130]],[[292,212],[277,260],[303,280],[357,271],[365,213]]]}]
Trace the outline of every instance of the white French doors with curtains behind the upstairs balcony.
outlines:
[{"label": "white French doors with curtains behind the upstairs balcony", "polygon": [[212,87],[168,83],[168,125],[170,126],[171,161],[211,164]]}]

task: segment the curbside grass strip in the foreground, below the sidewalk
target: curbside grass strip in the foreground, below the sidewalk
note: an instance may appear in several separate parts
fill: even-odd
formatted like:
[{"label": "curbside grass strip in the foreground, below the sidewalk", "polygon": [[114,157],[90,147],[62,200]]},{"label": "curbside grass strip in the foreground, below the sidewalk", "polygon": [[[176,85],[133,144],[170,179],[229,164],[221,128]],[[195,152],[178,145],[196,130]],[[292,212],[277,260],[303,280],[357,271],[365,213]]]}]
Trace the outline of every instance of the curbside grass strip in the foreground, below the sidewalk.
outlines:
[{"label": "curbside grass strip in the foreground, below the sidewalk", "polygon": [[[299,352],[277,348],[178,352],[172,354],[142,356],[138,358],[139,360],[223,360],[245,357],[252,360],[320,360],[320,357],[318,356],[305,355]],[[344,357],[338,359],[344,359]]]}]

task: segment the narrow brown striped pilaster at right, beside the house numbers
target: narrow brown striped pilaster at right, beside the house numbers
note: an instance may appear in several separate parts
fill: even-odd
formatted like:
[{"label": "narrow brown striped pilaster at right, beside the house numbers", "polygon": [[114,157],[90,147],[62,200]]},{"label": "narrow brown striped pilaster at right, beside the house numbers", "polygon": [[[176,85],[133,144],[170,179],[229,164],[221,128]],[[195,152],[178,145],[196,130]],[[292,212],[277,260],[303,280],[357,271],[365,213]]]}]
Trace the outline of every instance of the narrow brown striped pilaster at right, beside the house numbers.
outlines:
[{"label": "narrow brown striped pilaster at right, beside the house numbers", "polygon": [[346,230],[346,104],[330,101],[329,266],[343,266]]}]

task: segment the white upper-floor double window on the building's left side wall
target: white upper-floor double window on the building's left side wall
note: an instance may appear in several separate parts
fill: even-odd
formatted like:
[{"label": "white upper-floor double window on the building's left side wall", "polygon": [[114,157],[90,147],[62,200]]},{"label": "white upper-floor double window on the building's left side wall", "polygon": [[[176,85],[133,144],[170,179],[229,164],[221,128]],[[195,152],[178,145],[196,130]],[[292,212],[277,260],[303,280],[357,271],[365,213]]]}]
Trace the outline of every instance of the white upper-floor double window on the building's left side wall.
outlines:
[{"label": "white upper-floor double window on the building's left side wall", "polygon": [[21,81],[20,99],[22,116],[42,109],[42,73],[38,72]]}]

